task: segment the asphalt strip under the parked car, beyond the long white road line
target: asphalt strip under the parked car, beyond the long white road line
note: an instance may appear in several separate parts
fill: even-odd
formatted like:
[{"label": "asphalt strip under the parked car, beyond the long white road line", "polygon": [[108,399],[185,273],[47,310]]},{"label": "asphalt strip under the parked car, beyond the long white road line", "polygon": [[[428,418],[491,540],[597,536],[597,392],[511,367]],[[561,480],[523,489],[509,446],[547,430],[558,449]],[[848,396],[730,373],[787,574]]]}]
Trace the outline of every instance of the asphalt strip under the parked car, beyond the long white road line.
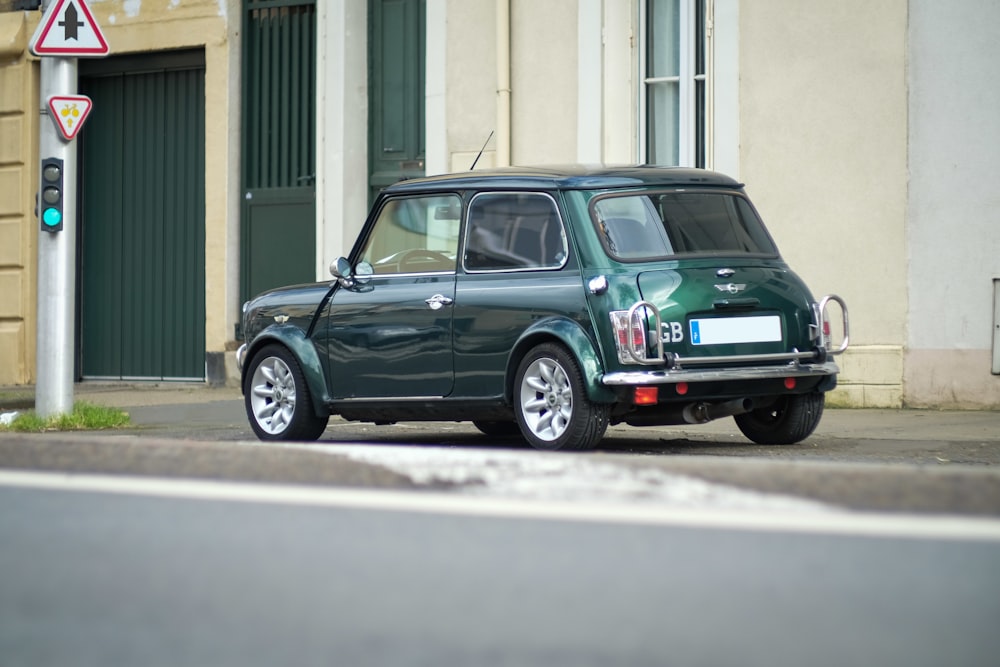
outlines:
[{"label": "asphalt strip under the parked car, beyond the long white road line", "polygon": [[[470,424],[375,426],[338,418],[317,444],[263,445],[233,389],[98,385],[79,398],[123,407],[132,428],[0,434],[0,468],[465,492],[482,487],[477,468],[496,470],[501,466],[494,459],[516,455],[547,465],[562,462],[564,469],[588,466],[573,471],[584,490],[609,487],[600,465],[611,465],[615,485],[622,479],[633,483],[629,497],[655,495],[667,485],[664,479],[682,476],[852,510],[1000,516],[998,412],[827,410],[804,443],[772,447],[746,440],[731,419],[689,427],[618,426],[596,452],[548,454],[517,439],[484,436]],[[338,453],[338,447],[358,443],[388,454],[372,460]],[[433,474],[415,477],[405,463],[414,449],[432,462]],[[475,452],[492,458],[459,460]],[[456,477],[456,469],[473,473]],[[508,474],[530,478],[523,466]],[[568,473],[558,474],[565,479]],[[533,492],[546,485],[552,486],[552,475],[543,474]],[[512,489],[507,484],[504,492],[523,491]]]}]

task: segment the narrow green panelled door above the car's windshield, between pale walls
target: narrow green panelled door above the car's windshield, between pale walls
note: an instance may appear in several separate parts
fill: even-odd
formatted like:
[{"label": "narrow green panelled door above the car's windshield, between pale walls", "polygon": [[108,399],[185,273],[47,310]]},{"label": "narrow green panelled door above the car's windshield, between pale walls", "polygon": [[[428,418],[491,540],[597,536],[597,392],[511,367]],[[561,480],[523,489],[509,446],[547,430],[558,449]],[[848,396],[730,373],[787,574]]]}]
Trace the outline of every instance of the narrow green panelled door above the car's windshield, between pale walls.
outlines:
[{"label": "narrow green panelled door above the car's windshield, between pale walls", "polygon": [[425,0],[369,0],[369,201],[424,175]]}]

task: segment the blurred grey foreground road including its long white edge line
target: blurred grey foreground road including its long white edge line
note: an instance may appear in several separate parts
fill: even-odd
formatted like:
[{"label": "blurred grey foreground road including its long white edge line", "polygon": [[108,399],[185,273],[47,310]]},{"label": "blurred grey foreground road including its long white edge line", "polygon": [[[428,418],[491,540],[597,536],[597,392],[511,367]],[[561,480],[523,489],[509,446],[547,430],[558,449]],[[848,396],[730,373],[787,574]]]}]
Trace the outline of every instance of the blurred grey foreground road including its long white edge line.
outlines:
[{"label": "blurred grey foreground road including its long white edge line", "polygon": [[753,529],[61,480],[0,484],[8,667],[940,667],[1000,652],[995,526],[871,535],[819,516]]}]

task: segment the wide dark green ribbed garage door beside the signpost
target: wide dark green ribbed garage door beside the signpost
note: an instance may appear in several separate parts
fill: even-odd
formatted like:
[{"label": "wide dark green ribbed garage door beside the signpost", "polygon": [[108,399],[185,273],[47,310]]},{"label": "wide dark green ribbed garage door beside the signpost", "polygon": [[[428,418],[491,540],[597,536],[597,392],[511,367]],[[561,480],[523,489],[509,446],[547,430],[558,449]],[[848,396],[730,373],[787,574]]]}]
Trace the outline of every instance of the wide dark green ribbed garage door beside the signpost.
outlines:
[{"label": "wide dark green ribbed garage door beside the signpost", "polygon": [[204,52],[80,64],[79,375],[205,377]]}]

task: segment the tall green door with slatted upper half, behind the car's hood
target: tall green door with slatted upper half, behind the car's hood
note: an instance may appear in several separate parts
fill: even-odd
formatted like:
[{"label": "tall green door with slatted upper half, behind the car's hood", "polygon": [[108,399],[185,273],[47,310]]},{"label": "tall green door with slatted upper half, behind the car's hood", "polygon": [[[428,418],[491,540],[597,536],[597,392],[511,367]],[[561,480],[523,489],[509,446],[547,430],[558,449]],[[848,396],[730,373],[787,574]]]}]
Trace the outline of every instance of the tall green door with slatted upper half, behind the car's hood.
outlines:
[{"label": "tall green door with slatted upper half, behind the car's hood", "polygon": [[242,298],[316,279],[316,3],[244,0]]}]

